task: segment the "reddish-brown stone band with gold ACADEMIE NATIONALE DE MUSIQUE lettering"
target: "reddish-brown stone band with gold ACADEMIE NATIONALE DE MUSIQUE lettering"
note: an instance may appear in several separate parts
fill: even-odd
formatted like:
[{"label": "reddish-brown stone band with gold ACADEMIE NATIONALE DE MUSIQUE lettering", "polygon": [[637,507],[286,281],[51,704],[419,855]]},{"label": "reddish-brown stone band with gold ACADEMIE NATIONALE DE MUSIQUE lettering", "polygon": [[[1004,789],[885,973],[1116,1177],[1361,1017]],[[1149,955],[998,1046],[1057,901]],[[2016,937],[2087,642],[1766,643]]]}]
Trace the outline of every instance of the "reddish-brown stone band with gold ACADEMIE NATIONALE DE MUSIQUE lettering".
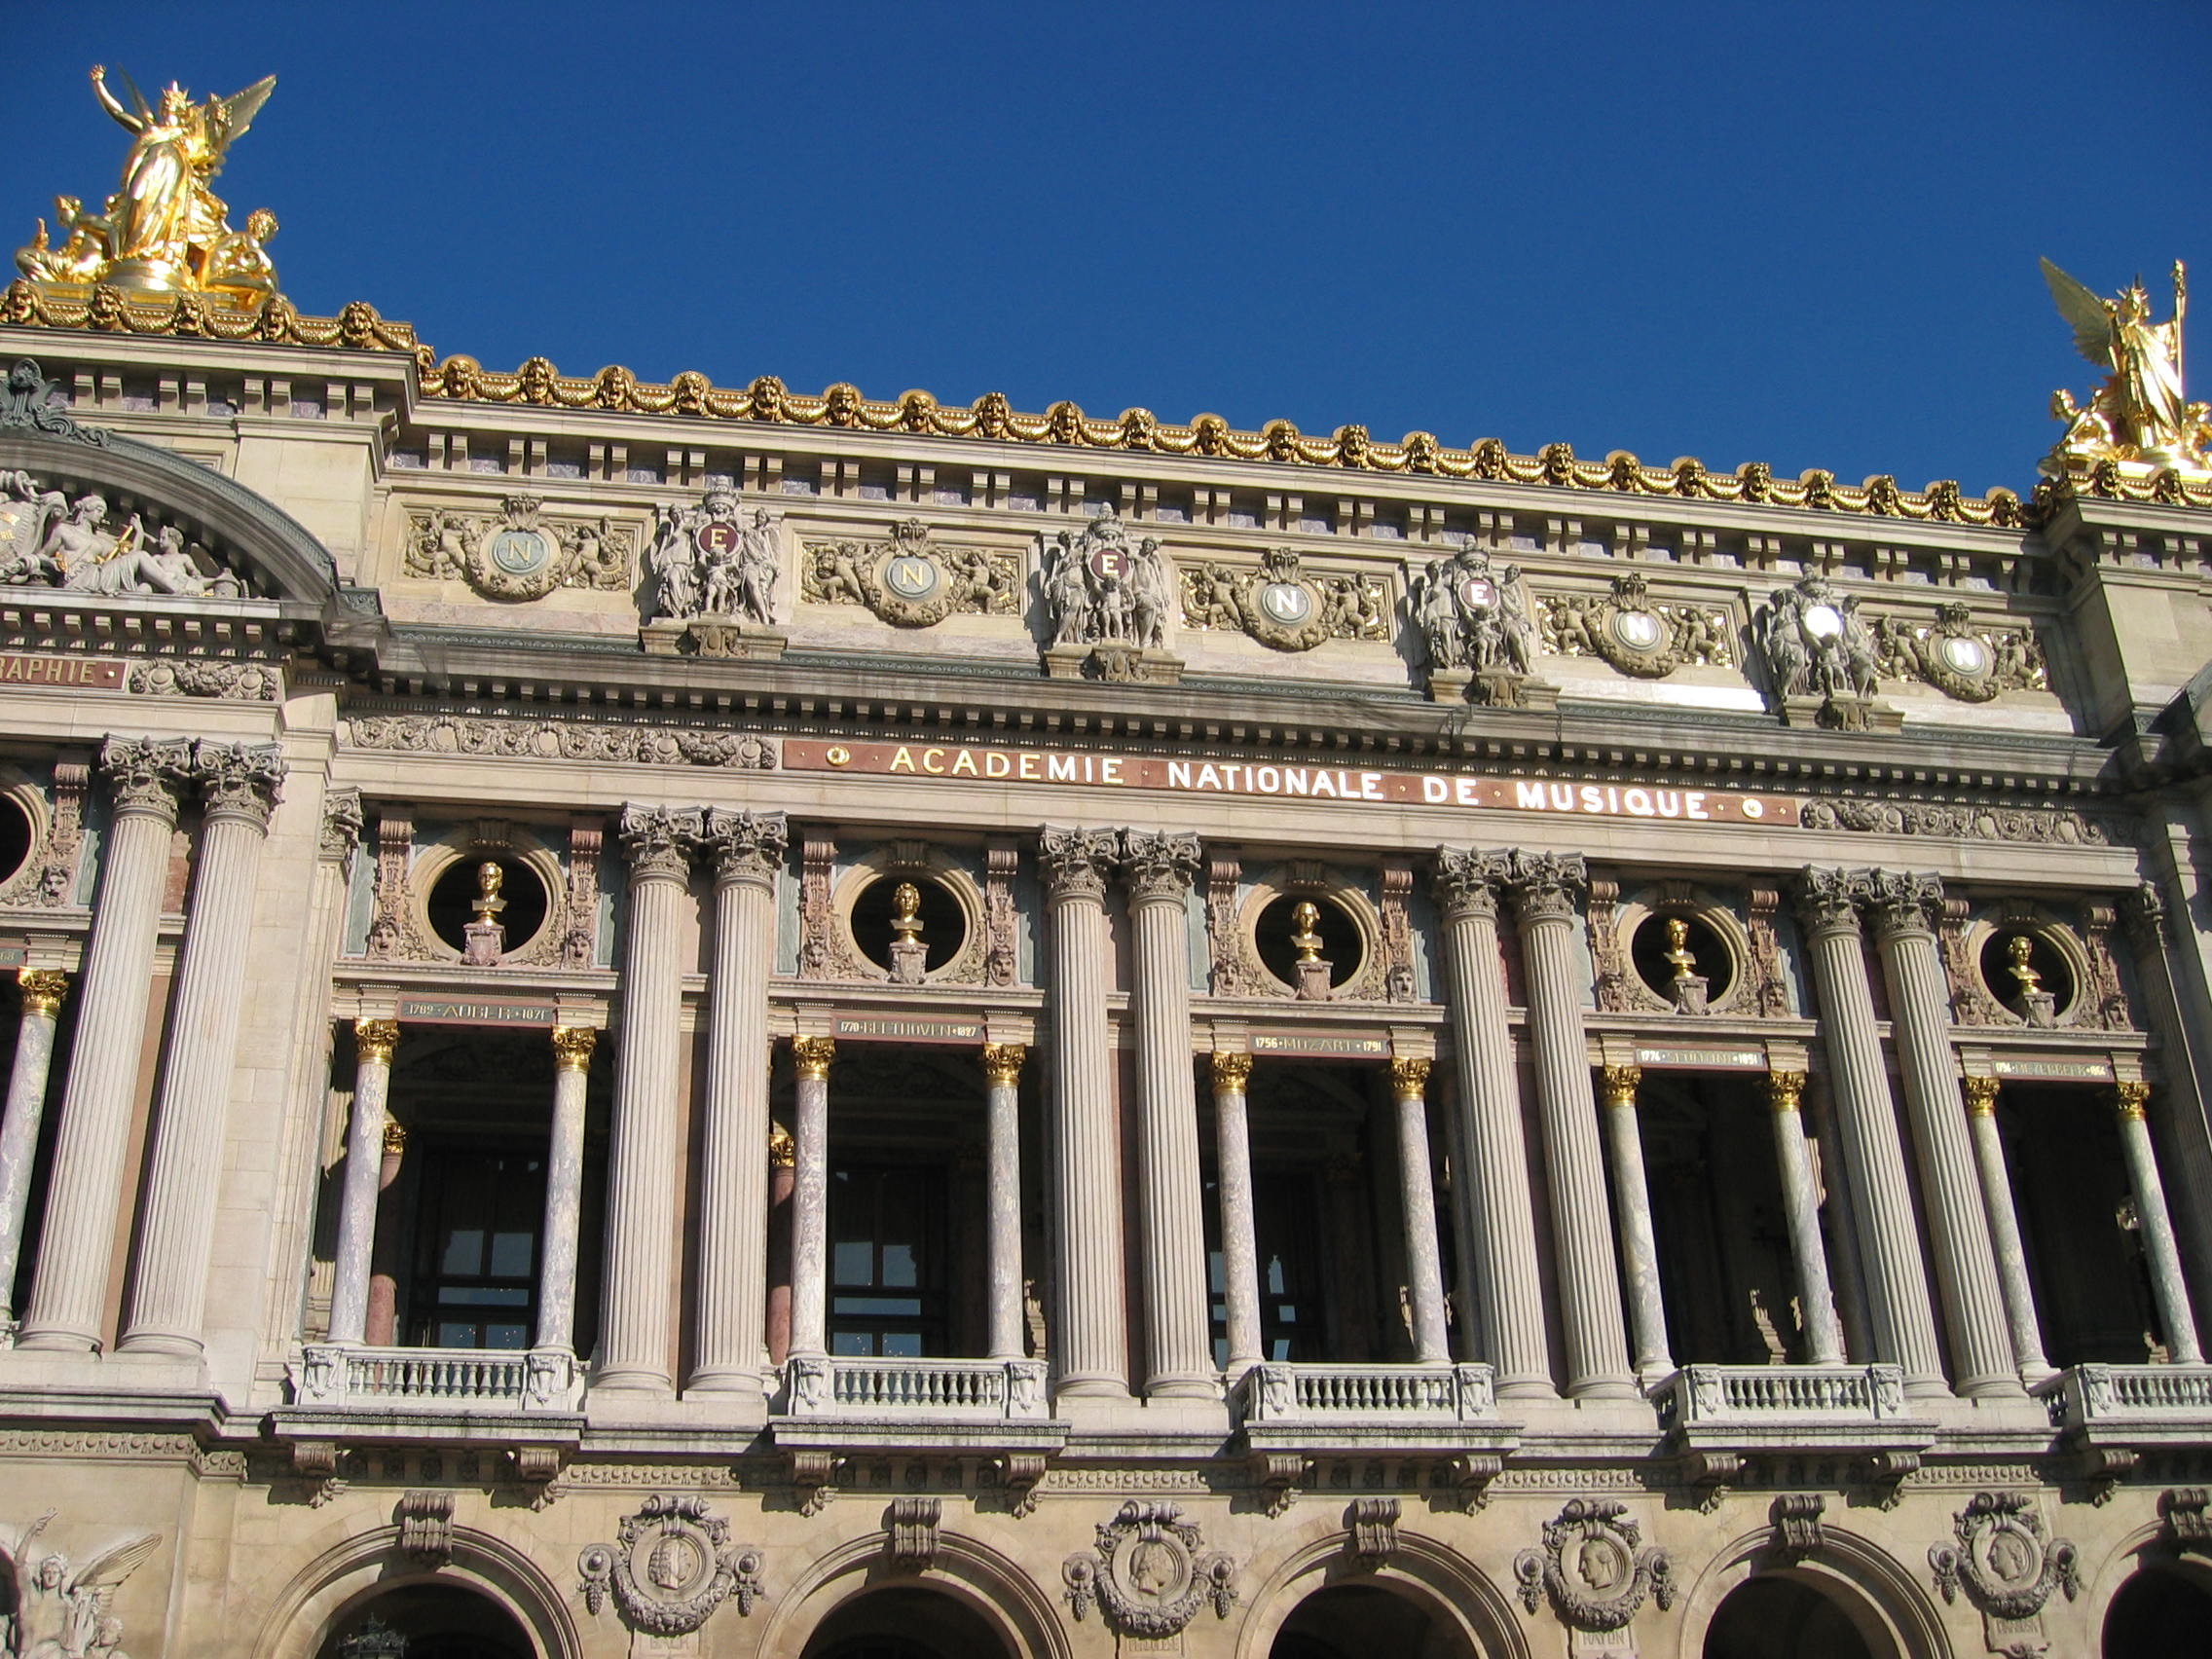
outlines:
[{"label": "reddish-brown stone band with gold ACADEMIE NATIONALE DE MUSIQUE lettering", "polygon": [[1077,787],[1166,790],[1175,794],[1542,812],[1564,818],[1778,825],[1798,821],[1798,803],[1781,794],[1661,790],[1644,783],[1553,783],[1482,772],[1405,772],[1356,765],[1285,765],[1279,761],[1164,761],[1150,754],[1020,750],[991,743],[830,743],[794,737],[783,743],[783,765],[790,772],[1073,783]]}]

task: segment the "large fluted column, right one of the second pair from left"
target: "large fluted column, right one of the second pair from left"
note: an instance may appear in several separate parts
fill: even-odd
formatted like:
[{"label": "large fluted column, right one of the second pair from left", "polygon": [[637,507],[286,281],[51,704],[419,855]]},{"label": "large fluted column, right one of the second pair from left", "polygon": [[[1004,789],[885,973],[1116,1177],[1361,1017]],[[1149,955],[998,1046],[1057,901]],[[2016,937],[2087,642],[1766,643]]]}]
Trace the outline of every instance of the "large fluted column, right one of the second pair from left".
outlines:
[{"label": "large fluted column, right one of the second pair from left", "polygon": [[768,969],[776,956],[781,812],[706,816],[714,856],[714,978],[699,1146],[699,1325],[688,1389],[765,1391]]}]

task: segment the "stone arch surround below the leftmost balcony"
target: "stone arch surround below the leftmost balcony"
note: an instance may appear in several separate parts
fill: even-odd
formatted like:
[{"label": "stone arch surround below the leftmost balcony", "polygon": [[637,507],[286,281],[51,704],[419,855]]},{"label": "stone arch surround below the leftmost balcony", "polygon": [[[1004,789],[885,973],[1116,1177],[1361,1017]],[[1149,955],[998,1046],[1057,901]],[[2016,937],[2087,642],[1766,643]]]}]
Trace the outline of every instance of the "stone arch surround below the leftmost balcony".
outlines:
[{"label": "stone arch surround below the leftmost balcony", "polygon": [[560,1586],[522,1551],[473,1526],[456,1526],[451,1559],[440,1571],[425,1571],[398,1553],[398,1526],[372,1526],[307,1562],[270,1601],[252,1659],[314,1659],[338,1619],[403,1584],[476,1590],[513,1615],[540,1659],[582,1659],[584,1644]]}]

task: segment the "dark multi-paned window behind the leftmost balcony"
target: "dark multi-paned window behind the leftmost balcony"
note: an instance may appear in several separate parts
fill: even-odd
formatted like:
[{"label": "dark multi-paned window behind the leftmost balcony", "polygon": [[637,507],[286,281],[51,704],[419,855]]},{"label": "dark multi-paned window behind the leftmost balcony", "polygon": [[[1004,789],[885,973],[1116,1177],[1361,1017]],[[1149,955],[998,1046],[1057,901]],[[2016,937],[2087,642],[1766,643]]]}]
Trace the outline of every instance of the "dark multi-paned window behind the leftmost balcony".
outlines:
[{"label": "dark multi-paned window behind the leftmost balcony", "polygon": [[434,1148],[422,1170],[409,1327],[420,1347],[529,1347],[538,1329],[535,1152]]}]

